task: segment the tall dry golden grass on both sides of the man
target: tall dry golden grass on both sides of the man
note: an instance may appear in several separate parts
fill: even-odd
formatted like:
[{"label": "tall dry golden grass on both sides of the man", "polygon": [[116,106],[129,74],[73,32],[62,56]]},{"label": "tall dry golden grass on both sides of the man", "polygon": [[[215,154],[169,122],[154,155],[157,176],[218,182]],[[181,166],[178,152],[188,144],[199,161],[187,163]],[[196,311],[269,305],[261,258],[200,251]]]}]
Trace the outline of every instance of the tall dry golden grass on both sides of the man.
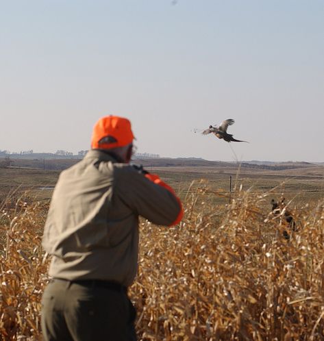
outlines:
[{"label": "tall dry golden grass on both sides of the man", "polygon": [[[324,205],[292,210],[297,231],[271,213],[271,193],[238,190],[212,203],[188,191],[177,227],[140,223],[138,277],[129,295],[139,340],[324,340]],[[0,213],[0,340],[41,340],[48,204]],[[284,230],[290,239],[282,236]]]}]

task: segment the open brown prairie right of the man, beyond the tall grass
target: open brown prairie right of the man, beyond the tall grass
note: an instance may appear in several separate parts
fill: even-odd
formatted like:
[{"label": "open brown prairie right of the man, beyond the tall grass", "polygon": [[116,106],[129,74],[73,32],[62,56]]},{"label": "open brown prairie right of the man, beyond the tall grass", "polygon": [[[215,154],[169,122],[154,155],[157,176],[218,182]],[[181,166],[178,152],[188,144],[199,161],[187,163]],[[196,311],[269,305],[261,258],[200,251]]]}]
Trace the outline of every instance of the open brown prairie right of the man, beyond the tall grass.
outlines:
[{"label": "open brown prairie right of the man, beyond the tall grass", "polygon": [[[294,205],[312,203],[324,198],[324,167],[303,167],[285,170],[262,170],[238,166],[232,167],[148,167],[174,186],[179,192],[188,188],[192,181],[195,186],[203,181],[210,190],[223,192],[224,198],[219,203],[227,203],[232,178],[232,194],[239,188],[251,193],[271,192],[274,198],[284,193]],[[194,186],[194,187],[195,187]]]}]

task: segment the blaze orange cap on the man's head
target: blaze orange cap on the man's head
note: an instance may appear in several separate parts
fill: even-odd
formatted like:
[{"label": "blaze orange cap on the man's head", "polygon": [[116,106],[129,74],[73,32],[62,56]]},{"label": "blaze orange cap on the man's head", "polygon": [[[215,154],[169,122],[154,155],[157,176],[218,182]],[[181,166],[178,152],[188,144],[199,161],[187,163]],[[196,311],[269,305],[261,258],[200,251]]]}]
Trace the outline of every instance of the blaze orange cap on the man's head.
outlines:
[{"label": "blaze orange cap on the man's head", "polygon": [[95,124],[92,131],[92,149],[110,149],[132,143],[134,135],[127,118],[104,116]]}]

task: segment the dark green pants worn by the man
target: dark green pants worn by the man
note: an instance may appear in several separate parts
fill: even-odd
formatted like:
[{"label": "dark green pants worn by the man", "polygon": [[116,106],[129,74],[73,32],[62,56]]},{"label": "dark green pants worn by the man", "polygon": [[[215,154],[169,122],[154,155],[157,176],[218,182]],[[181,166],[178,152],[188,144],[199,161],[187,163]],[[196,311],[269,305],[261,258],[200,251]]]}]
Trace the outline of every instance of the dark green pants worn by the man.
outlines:
[{"label": "dark green pants worn by the man", "polygon": [[54,279],[42,296],[45,341],[133,341],[135,316],[126,290]]}]

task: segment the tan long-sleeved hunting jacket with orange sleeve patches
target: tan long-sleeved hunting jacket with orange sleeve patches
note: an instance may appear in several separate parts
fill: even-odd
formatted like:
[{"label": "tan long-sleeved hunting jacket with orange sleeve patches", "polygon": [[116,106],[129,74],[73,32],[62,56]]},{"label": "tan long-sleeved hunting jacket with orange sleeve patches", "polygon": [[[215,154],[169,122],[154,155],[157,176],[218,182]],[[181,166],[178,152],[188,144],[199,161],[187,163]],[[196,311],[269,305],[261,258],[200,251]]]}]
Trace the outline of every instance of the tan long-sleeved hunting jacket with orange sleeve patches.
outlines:
[{"label": "tan long-sleeved hunting jacket with orange sleeve patches", "polygon": [[179,200],[141,170],[97,149],[64,170],[55,186],[42,246],[53,255],[49,275],[129,286],[138,261],[138,216],[171,225]]}]

